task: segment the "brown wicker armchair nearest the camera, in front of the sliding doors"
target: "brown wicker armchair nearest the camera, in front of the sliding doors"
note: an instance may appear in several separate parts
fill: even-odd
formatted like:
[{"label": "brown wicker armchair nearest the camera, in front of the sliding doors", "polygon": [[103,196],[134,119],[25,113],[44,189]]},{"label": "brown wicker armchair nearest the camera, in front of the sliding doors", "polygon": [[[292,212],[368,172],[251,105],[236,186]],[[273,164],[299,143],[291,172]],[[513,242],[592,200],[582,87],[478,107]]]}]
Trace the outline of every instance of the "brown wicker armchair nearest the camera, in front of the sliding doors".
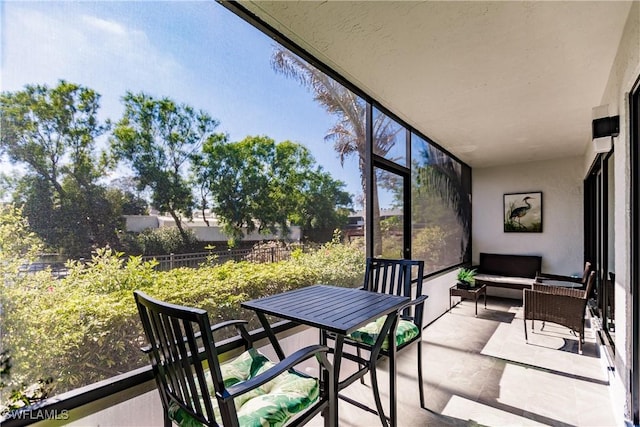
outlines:
[{"label": "brown wicker armchair nearest the camera, in front of the sliding doors", "polygon": [[538,283],[533,285],[533,289],[525,289],[523,291],[525,340],[528,341],[528,319],[531,319],[531,330],[534,329],[534,320],[542,321],[541,330],[544,328],[544,322],[557,323],[578,334],[578,352],[582,354],[584,316],[595,274],[595,271],[589,274],[584,290]]}]

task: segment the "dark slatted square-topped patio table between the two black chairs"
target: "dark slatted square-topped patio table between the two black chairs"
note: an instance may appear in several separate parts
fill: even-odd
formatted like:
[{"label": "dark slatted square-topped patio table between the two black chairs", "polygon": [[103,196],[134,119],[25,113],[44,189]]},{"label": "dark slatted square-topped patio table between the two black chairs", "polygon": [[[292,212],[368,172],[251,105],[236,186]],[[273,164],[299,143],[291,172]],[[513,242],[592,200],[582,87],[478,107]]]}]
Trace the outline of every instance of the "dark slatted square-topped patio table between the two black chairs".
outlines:
[{"label": "dark slatted square-topped patio table between the two black chairs", "polygon": [[[361,289],[341,288],[329,285],[314,285],[295,289],[264,298],[243,302],[243,308],[256,312],[273,348],[282,360],[285,358],[282,347],[273,333],[266,315],[291,320],[296,323],[312,326],[335,335],[334,348],[334,384],[337,393],[357,378],[366,373],[361,369],[342,383],[340,378],[340,363],[343,356],[344,338],[358,328],[375,319],[388,315],[386,322],[391,323],[393,330],[397,322],[396,311],[407,301],[408,297],[399,297]],[[389,340],[389,424],[397,425],[396,402],[396,369],[395,369],[395,340]],[[344,398],[343,396],[341,396]],[[351,399],[345,399],[356,403]],[[357,403],[356,403],[357,404]],[[362,405],[358,405],[363,407]],[[373,410],[370,410],[374,412]],[[327,420],[327,418],[325,418]],[[328,422],[332,426],[338,425],[338,408],[331,408]]]}]

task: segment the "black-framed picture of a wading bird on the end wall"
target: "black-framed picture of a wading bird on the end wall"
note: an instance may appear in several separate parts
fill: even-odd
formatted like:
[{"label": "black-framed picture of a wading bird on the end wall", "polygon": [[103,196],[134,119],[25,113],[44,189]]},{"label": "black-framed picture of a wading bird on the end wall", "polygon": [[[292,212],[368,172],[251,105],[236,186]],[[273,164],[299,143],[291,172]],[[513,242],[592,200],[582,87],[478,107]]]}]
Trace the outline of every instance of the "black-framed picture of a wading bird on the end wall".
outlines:
[{"label": "black-framed picture of a wading bird on the end wall", "polygon": [[542,192],[504,194],[503,214],[505,233],[542,233]]}]

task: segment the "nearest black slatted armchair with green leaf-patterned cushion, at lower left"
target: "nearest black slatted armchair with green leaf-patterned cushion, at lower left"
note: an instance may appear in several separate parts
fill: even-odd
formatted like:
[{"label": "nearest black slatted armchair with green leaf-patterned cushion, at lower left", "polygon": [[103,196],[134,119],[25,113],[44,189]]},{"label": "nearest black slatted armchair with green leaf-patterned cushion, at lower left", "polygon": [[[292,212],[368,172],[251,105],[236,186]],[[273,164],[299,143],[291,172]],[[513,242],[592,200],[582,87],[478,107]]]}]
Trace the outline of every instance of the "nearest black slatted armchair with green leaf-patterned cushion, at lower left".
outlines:
[{"label": "nearest black slatted armchair with green leaf-patterned cushion, at lower left", "polygon": [[[335,405],[332,366],[325,346],[296,351],[278,364],[253,348],[244,320],[213,327],[205,310],[158,301],[134,292],[149,346],[153,373],[164,409],[165,426],[302,425]],[[220,363],[213,332],[235,327],[245,352]],[[316,357],[322,377],[293,369]]]}]

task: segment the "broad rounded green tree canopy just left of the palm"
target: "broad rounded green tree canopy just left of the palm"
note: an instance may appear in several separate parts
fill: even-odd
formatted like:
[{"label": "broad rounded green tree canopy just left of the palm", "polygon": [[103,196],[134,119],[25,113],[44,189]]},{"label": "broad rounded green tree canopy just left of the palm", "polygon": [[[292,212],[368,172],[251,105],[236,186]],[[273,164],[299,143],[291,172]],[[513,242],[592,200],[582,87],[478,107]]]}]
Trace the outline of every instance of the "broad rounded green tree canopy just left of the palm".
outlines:
[{"label": "broad rounded green tree canopy just left of the palm", "polygon": [[344,183],[315,163],[309,150],[266,136],[240,142],[210,139],[194,163],[194,175],[212,199],[212,211],[235,244],[247,232],[284,235],[290,223],[338,225],[337,209],[350,205]]}]

